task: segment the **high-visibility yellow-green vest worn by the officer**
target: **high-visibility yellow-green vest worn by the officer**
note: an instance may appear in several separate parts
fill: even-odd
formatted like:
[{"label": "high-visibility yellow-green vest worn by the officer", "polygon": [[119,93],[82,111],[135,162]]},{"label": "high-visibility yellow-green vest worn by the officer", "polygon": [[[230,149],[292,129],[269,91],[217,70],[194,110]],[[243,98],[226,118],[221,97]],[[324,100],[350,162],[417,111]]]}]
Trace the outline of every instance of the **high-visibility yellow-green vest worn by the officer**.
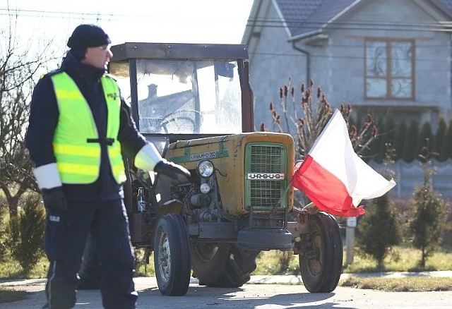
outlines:
[{"label": "high-visibility yellow-green vest worn by the officer", "polygon": [[[52,75],[59,108],[53,147],[62,183],[93,183],[100,172],[100,143],[93,112],[73,79],[65,72]],[[119,87],[103,75],[102,88],[107,102],[107,145],[112,174],[117,183],[126,180],[121,144],[117,140],[121,99]],[[97,142],[92,143],[93,140]]]}]

